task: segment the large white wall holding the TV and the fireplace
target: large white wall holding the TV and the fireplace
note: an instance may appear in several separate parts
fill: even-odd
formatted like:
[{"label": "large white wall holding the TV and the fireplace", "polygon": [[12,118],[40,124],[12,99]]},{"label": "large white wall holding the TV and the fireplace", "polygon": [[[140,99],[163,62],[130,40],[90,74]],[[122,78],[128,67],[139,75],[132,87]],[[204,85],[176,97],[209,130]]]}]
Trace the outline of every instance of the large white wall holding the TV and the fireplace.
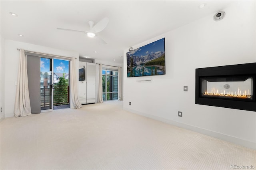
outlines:
[{"label": "large white wall holding the TV and the fireplace", "polygon": [[212,14],[134,45],[165,38],[166,75],[138,82],[127,77],[124,57],[124,109],[255,149],[256,112],[195,104],[196,68],[256,62],[255,1],[236,2],[224,11],[219,22]]}]

